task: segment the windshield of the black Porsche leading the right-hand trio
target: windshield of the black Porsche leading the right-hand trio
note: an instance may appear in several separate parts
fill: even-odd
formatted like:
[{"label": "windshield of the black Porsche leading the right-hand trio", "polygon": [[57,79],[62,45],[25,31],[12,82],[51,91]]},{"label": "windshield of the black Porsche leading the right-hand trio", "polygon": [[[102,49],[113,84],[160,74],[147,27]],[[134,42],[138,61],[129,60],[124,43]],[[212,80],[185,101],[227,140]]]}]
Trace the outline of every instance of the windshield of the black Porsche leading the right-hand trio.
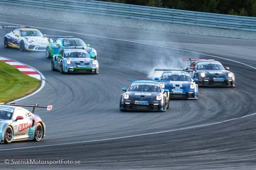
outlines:
[{"label": "windshield of the black Porsche leading the right-hand trio", "polygon": [[128,91],[161,92],[157,83],[133,83]]}]

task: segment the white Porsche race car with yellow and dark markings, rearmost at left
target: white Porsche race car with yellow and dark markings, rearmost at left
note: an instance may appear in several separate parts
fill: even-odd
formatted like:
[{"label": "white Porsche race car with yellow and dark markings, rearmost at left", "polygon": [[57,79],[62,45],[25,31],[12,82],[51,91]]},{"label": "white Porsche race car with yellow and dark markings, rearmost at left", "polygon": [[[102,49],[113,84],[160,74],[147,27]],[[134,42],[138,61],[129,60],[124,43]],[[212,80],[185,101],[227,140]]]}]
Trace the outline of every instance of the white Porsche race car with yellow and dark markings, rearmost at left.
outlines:
[{"label": "white Porsche race car with yellow and dark markings, rearmost at left", "polygon": [[23,26],[0,26],[0,28],[17,28],[4,37],[4,46],[19,48],[21,51],[46,51],[49,44],[47,37],[37,29]]}]

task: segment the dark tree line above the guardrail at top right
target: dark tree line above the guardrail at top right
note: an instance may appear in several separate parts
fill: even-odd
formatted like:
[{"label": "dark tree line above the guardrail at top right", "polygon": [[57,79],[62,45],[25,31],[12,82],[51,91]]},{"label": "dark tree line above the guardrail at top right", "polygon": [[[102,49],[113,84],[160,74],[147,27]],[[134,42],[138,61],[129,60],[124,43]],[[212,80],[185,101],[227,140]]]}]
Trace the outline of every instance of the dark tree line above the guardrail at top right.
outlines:
[{"label": "dark tree line above the guardrail at top right", "polygon": [[256,0],[98,0],[104,2],[172,8],[256,17]]}]

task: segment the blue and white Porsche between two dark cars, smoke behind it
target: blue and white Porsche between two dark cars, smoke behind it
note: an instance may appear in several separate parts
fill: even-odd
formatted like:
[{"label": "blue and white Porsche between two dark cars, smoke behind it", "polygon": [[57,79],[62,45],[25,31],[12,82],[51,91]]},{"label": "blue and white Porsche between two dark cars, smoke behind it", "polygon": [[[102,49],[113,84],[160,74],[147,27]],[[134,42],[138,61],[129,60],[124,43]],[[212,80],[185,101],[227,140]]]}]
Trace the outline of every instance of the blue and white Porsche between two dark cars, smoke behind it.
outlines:
[{"label": "blue and white Porsche between two dark cars, smoke behind it", "polygon": [[[189,70],[177,69],[155,69],[164,71],[162,76],[155,78],[159,81],[162,88],[169,90],[169,99],[198,99],[197,79],[191,79]],[[166,82],[167,81],[167,82]]]}]

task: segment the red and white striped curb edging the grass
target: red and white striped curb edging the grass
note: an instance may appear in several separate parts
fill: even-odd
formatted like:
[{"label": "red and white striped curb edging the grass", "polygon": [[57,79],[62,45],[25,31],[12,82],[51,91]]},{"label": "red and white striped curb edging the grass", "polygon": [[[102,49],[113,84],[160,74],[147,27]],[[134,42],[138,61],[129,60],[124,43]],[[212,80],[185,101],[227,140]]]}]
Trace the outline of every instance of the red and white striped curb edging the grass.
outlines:
[{"label": "red and white striped curb edging the grass", "polygon": [[11,59],[7,59],[4,57],[0,57],[0,61],[3,61],[9,65],[12,65],[13,67],[17,68],[20,72],[23,72],[25,75],[36,78],[37,80],[41,80],[40,74],[35,69],[33,69],[23,63],[20,63],[20,62],[11,60]]}]

